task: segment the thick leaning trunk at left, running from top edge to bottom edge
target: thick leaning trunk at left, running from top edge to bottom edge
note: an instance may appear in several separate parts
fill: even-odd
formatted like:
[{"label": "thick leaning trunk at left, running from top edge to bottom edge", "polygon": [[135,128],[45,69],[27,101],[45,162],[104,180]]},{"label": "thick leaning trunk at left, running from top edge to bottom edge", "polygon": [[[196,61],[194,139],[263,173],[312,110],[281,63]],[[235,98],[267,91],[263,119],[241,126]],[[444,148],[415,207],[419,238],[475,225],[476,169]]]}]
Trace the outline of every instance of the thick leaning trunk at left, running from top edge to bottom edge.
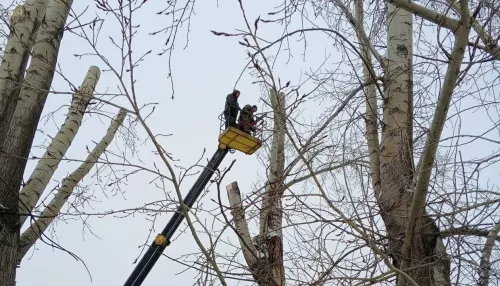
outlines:
[{"label": "thick leaning trunk at left, running from top edge to bottom edge", "polygon": [[[19,246],[18,199],[38,120],[47,98],[71,0],[52,0],[33,45],[33,56],[12,119],[0,145],[0,286],[15,284]],[[5,127],[2,127],[5,128]]]}]

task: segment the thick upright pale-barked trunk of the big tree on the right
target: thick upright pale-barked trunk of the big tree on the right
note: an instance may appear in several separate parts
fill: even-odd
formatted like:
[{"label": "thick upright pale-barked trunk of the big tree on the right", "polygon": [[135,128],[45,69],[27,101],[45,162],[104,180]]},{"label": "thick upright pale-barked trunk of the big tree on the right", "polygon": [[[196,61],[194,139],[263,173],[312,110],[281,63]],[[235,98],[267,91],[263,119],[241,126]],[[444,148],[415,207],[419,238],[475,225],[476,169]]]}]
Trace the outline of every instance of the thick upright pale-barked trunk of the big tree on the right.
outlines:
[{"label": "thick upright pale-barked trunk of the big tree on the right", "polygon": [[[413,19],[410,12],[398,9],[392,4],[387,5],[388,65],[380,157],[381,190],[378,202],[390,240],[389,254],[394,265],[399,268],[411,203],[409,190],[413,181],[410,133]],[[412,278],[419,285],[429,285],[423,279],[424,276],[415,279],[412,275]]]}]

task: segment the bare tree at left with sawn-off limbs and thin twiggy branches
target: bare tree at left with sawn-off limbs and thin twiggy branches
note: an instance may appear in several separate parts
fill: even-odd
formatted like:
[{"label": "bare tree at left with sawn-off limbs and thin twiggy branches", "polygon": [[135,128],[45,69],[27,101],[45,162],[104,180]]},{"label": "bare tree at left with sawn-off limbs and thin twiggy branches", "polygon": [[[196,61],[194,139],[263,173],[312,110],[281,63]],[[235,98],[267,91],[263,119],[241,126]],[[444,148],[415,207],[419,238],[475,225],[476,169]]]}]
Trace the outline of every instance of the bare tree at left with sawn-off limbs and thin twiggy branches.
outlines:
[{"label": "bare tree at left with sawn-off limbs and thin twiggy branches", "polygon": [[[2,187],[0,188],[0,203],[2,207],[0,214],[0,241],[5,242],[0,244],[0,253],[2,254],[2,259],[0,259],[0,271],[2,272],[0,275],[0,285],[10,286],[15,284],[17,263],[25,257],[26,252],[37,241],[45,242],[48,228],[53,222],[65,215],[79,215],[84,217],[89,215],[112,215],[118,212],[126,215],[143,212],[149,215],[150,211],[158,213],[169,211],[166,207],[175,206],[175,203],[181,201],[180,183],[183,177],[189,174],[187,172],[182,175],[176,174],[176,167],[171,162],[173,159],[172,154],[166,152],[158,142],[158,137],[161,134],[153,133],[146,123],[146,120],[154,111],[154,106],[152,110],[147,110],[150,104],[141,103],[141,99],[137,96],[137,89],[135,88],[138,75],[134,73],[134,70],[151,53],[150,50],[137,58],[135,57],[135,53],[132,56],[133,38],[139,27],[133,24],[133,14],[145,2],[120,2],[116,3],[116,6],[113,7],[107,2],[96,1],[97,8],[103,14],[109,14],[111,19],[117,20],[121,26],[121,34],[118,35],[122,38],[117,42],[114,42],[114,38],[110,38],[111,44],[117,47],[123,56],[119,65],[114,65],[106,58],[105,53],[98,49],[99,34],[103,22],[99,17],[94,18],[90,23],[82,22],[81,14],[71,11],[72,1],[28,0],[23,5],[19,5],[14,9],[11,17],[12,21],[10,22],[11,33],[7,41],[6,52],[3,55],[3,81],[2,85],[0,85],[2,88],[0,97],[0,134],[2,134],[0,162],[3,164],[0,170],[0,179],[2,180]],[[187,1],[186,5],[183,5],[183,8],[180,10],[177,5],[181,3],[168,3],[167,7],[164,7],[158,13],[159,15],[170,14],[175,16],[172,19],[172,26],[153,33],[165,32],[168,36],[167,43],[170,42],[166,48],[163,48],[159,54],[160,56],[166,52],[169,52],[171,56],[174,40],[180,29],[180,25],[182,23],[189,24],[190,15],[193,12],[192,2]],[[180,19],[177,17],[178,14],[180,15]],[[71,21],[67,20],[68,16],[72,18]],[[69,23],[67,24],[66,22]],[[69,26],[71,24],[72,26]],[[91,33],[88,32],[88,28],[90,28]],[[96,57],[107,71],[116,76],[119,93],[98,94],[95,91],[100,76],[100,69],[97,66],[90,67],[79,88],[73,85],[62,74],[61,70],[56,69],[61,39],[63,34],[68,32],[86,41],[91,49],[90,53],[76,55],[76,57]],[[171,37],[173,38],[172,40],[170,40]],[[116,43],[120,42],[121,46],[116,45]],[[26,78],[24,78],[28,62],[30,64],[27,68]],[[60,126],[57,134],[51,138],[50,144],[45,147],[43,156],[40,158],[35,156],[30,158],[30,149],[34,148],[32,146],[33,138],[37,126],[39,127],[48,94],[51,92],[55,94],[70,94],[68,92],[51,90],[52,79],[55,74],[60,75],[64,80],[68,81],[73,89],[71,105],[68,108],[66,120]],[[171,71],[169,75],[171,75]],[[117,97],[126,99],[125,103],[114,100]],[[124,107],[123,105],[129,105],[129,107]],[[92,151],[89,150],[89,154],[84,160],[66,158],[66,152],[76,138],[84,116],[92,113],[103,115],[106,113],[105,107],[118,108],[119,111],[116,117],[111,120],[108,131],[102,137],[101,141],[96,143]],[[128,158],[125,154],[107,152],[108,145],[114,139],[127,113],[133,119],[129,122],[130,126],[128,129],[125,130],[125,143],[132,146],[126,147],[130,149],[135,148],[133,145],[135,144],[134,141],[137,140],[137,136],[134,133],[134,128],[136,126],[142,127],[142,131],[146,134],[145,141],[153,143],[154,151],[167,168],[168,175],[162,174],[156,165],[154,169],[148,168],[143,164],[132,163],[131,158]],[[122,162],[109,160],[110,156],[117,157]],[[27,182],[21,183],[26,162],[30,159],[38,160],[38,164]],[[51,180],[53,180],[52,176],[64,160],[81,161],[81,165],[64,178],[61,184],[58,184],[54,197],[45,205],[43,201],[46,198],[42,197],[47,194],[44,191],[48,189]],[[114,173],[112,168],[112,166],[116,165],[126,167],[131,169],[131,171],[123,176],[119,176]],[[98,175],[106,166],[109,168],[113,176],[111,176],[111,179],[108,178],[106,186],[113,185],[113,188],[119,188],[116,186],[119,186],[124,179],[138,171],[154,174],[156,179],[153,182],[157,187],[165,191],[166,184],[171,183],[175,189],[177,199],[167,196],[165,200],[152,202],[142,207],[104,213],[65,213],[62,209],[67,203],[70,203],[71,208],[76,208],[78,200],[83,200],[85,203],[89,199],[85,197],[85,194],[82,195],[77,190],[82,179],[87,176],[94,166],[97,168],[96,172]],[[105,167],[103,168],[102,166]],[[180,168],[181,171],[186,169],[189,170],[191,168]],[[102,180],[102,177],[99,175],[97,180]],[[159,183],[156,183],[157,181]],[[158,209],[154,210],[155,206]],[[204,252],[205,257],[208,261],[212,262],[214,269],[217,269],[214,258],[204,248],[201,241],[197,239],[196,231],[192,226],[193,223],[189,214],[185,213],[185,216],[189,222],[192,234]],[[28,228],[20,235],[19,230],[25,223],[28,224]],[[54,243],[52,242],[51,244]],[[220,273],[219,279],[224,280]]]}]

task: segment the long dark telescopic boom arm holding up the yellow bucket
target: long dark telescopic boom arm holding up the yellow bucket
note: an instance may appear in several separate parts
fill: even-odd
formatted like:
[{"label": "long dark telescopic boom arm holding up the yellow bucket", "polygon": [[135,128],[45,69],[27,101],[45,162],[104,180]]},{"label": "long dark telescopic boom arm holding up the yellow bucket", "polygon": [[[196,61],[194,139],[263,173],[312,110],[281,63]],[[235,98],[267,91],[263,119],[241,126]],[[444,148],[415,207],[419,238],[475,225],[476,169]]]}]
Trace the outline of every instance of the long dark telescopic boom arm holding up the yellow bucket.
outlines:
[{"label": "long dark telescopic boom arm holding up the yellow bucket", "polygon": [[[189,193],[184,198],[184,204],[188,208],[191,208],[196,202],[215,170],[217,170],[222,160],[226,157],[228,150],[229,148],[218,148],[217,151],[215,151],[212,159],[210,159],[208,165],[205,167],[191,190],[189,190]],[[177,208],[174,216],[170,219],[163,231],[156,236],[155,240],[151,243],[151,246],[141,258],[132,274],[130,274],[124,286],[139,286],[142,284],[144,279],[146,279],[146,276],[149,274],[158,258],[160,258],[165,248],[170,244],[170,239],[174,236],[175,231],[184,219],[181,207],[182,206],[179,206]]]}]

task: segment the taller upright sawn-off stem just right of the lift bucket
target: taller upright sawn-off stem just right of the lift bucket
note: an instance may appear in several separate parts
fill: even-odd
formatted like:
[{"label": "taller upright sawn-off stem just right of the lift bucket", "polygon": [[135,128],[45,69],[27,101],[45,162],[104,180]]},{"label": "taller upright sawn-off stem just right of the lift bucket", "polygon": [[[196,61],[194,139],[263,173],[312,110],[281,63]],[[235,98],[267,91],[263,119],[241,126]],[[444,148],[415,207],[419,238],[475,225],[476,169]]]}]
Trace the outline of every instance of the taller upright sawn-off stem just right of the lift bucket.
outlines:
[{"label": "taller upright sawn-off stem just right of the lift bucket", "polygon": [[285,167],[285,95],[270,90],[274,112],[274,133],[271,143],[271,158],[267,185],[260,212],[258,241],[265,244],[269,269],[276,285],[285,285],[283,265],[283,234],[281,231],[283,210],[283,180]]}]

